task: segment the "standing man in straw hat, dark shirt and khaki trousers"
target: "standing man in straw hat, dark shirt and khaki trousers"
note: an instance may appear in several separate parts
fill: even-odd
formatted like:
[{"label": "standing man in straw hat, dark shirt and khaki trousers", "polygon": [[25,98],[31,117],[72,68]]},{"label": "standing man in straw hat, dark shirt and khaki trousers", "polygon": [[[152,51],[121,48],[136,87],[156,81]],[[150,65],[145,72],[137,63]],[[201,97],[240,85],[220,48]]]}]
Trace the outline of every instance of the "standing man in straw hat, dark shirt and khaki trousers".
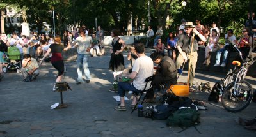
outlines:
[{"label": "standing man in straw hat, dark shirt and khaki trousers", "polygon": [[[196,62],[198,59],[198,41],[206,41],[205,37],[200,34],[196,29],[195,26],[193,25],[193,22],[186,22],[186,24],[184,25],[186,32],[184,32],[183,34],[179,35],[178,41],[177,41],[177,50],[179,51],[179,55],[177,57],[176,60],[176,66],[177,69],[180,69],[180,66],[182,66],[182,64],[184,62],[188,61],[188,57],[190,58],[191,56],[191,69],[190,69],[190,73],[189,73],[189,84],[190,86],[193,85],[193,80],[195,77],[195,69],[196,69]],[[194,39],[194,43],[193,43],[193,49],[191,52],[191,42],[193,41],[193,33],[195,34],[195,39]],[[184,65],[184,64],[183,64]]]}]

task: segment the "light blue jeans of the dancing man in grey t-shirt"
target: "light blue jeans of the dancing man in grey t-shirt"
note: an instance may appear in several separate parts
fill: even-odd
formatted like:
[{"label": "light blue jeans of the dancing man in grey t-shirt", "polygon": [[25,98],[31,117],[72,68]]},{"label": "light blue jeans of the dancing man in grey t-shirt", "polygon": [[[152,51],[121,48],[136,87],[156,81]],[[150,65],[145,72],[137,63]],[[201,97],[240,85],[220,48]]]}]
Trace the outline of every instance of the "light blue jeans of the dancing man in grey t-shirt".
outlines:
[{"label": "light blue jeans of the dancing man in grey t-shirt", "polygon": [[77,62],[77,75],[78,75],[77,80],[80,81],[80,82],[83,81],[82,69],[84,69],[85,79],[86,80],[91,79],[87,61],[88,61],[88,55],[87,54],[77,54],[77,61],[76,61]]}]

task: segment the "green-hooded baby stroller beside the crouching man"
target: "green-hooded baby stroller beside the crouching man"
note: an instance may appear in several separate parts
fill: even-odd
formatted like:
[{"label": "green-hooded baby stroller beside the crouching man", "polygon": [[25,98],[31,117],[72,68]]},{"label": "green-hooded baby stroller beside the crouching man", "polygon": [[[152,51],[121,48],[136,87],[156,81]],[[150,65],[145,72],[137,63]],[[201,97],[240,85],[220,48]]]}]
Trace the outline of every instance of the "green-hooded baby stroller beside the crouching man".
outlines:
[{"label": "green-hooded baby stroller beside the crouching man", "polygon": [[7,55],[5,54],[5,59],[7,60],[8,65],[3,67],[4,73],[8,73],[8,71],[16,71],[17,73],[20,73],[21,61],[19,48],[11,45],[8,48]]}]

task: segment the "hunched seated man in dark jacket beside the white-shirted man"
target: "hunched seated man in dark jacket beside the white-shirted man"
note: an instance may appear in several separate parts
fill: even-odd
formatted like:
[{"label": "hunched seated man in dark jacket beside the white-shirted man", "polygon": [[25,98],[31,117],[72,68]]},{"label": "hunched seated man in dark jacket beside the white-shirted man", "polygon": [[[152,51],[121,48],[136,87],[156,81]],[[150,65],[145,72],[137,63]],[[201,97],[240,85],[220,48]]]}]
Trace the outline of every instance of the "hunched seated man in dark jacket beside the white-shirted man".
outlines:
[{"label": "hunched seated man in dark jacket beside the white-shirted man", "polygon": [[[170,57],[153,52],[150,58],[158,65],[153,80],[154,88],[159,87],[159,85],[164,85],[168,88],[170,85],[177,83],[176,65]],[[152,98],[153,96],[154,92],[149,92],[148,98]]]}]

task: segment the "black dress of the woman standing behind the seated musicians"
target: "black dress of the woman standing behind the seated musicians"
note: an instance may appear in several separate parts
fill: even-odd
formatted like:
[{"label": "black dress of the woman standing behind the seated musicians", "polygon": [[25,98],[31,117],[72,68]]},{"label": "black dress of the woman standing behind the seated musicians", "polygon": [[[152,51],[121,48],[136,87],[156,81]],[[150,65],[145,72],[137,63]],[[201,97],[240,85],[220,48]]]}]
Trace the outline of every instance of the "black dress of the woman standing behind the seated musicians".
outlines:
[{"label": "black dress of the woman standing behind the seated musicians", "polygon": [[111,54],[111,58],[109,61],[109,70],[112,71],[123,71],[124,70],[124,56],[122,52],[120,52],[118,55],[115,54],[117,50],[120,50],[122,47],[122,44],[120,44],[119,41],[120,38],[114,43],[114,39],[112,41],[112,48],[113,53]]}]

